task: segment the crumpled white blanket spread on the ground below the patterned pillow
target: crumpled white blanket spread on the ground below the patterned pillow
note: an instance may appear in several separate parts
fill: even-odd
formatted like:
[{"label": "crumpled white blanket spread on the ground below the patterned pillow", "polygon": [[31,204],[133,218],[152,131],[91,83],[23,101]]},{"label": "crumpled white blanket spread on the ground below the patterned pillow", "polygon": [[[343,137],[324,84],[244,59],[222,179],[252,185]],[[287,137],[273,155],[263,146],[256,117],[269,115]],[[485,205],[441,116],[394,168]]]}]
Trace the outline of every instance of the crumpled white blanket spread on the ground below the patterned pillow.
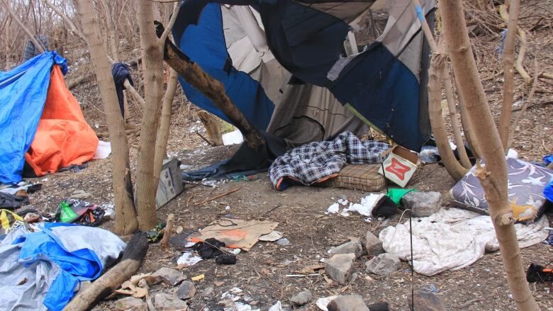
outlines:
[{"label": "crumpled white blanket spread on the ground below the patterned pillow", "polygon": [[[486,251],[499,249],[491,218],[461,210],[442,208],[429,217],[413,218],[413,267],[417,273],[434,276],[474,264]],[[529,247],[547,238],[547,217],[530,225],[516,224],[518,244]],[[379,234],[382,246],[401,260],[410,261],[409,221],[387,227]]]}]

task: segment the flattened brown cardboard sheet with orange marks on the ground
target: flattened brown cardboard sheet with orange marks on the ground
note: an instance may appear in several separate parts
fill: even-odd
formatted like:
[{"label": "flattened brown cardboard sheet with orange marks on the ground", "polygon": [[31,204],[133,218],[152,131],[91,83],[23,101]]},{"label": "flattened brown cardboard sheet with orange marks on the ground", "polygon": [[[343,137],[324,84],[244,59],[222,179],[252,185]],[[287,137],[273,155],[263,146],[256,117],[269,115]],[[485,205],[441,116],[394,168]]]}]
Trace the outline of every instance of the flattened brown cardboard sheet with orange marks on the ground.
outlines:
[{"label": "flattened brown cardboard sheet with orange marks on the ground", "polygon": [[189,240],[191,242],[202,242],[213,237],[225,242],[227,247],[250,251],[260,236],[272,232],[278,225],[278,222],[267,220],[242,220],[222,217],[211,222]]}]

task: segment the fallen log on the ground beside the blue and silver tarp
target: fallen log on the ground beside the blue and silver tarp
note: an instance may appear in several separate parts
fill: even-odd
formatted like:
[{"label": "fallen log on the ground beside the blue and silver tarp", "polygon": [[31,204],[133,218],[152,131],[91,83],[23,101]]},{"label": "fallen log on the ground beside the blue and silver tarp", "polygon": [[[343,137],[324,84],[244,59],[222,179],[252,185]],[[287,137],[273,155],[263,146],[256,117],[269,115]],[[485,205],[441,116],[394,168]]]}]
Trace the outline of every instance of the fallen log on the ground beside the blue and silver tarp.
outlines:
[{"label": "fallen log on the ground beside the blue and silver tarp", "polygon": [[90,310],[100,300],[117,290],[123,282],[133,276],[146,254],[148,240],[144,232],[133,235],[123,252],[121,261],[100,276],[89,287],[79,291],[63,310],[80,311]]}]

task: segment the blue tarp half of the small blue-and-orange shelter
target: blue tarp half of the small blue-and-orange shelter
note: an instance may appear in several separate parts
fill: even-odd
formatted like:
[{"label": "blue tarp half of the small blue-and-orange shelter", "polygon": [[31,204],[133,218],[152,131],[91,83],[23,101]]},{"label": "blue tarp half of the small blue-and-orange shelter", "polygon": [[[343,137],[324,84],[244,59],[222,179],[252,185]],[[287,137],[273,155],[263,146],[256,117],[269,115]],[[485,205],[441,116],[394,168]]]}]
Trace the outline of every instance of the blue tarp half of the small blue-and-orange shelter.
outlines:
[{"label": "blue tarp half of the small blue-and-orange shelter", "polygon": [[33,57],[9,72],[0,72],[0,182],[21,181],[25,153],[43,113],[54,64],[67,72],[56,52]]}]

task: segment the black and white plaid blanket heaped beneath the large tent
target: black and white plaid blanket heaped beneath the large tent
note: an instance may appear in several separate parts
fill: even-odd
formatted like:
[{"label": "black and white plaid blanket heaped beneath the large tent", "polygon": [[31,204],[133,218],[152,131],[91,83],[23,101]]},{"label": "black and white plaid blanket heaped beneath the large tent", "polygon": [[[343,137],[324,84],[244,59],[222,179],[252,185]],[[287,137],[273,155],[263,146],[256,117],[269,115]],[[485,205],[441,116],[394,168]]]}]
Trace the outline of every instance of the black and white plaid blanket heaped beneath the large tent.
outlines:
[{"label": "black and white plaid blanket heaped beneath the large tent", "polygon": [[337,176],[346,162],[380,163],[380,154],[389,147],[384,142],[362,142],[352,132],[342,132],[335,140],[311,142],[278,157],[269,168],[269,178],[278,191],[291,184],[309,186]]}]

